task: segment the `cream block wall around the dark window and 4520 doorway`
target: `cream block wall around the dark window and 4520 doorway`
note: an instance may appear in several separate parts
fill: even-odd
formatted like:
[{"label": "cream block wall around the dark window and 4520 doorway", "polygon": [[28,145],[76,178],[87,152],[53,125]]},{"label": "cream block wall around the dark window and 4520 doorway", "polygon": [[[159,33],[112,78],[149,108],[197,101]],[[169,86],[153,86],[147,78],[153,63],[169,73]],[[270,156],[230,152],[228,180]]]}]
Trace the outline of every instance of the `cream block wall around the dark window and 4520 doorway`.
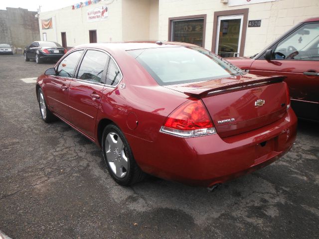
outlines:
[{"label": "cream block wall around the dark window and 4520 doorway", "polygon": [[258,53],[300,21],[319,16],[319,0],[278,0],[228,6],[220,0],[160,0],[159,38],[168,39],[168,18],[207,14],[205,48],[212,50],[214,11],[249,8],[248,20],[261,19],[261,27],[248,27],[244,55]]}]

